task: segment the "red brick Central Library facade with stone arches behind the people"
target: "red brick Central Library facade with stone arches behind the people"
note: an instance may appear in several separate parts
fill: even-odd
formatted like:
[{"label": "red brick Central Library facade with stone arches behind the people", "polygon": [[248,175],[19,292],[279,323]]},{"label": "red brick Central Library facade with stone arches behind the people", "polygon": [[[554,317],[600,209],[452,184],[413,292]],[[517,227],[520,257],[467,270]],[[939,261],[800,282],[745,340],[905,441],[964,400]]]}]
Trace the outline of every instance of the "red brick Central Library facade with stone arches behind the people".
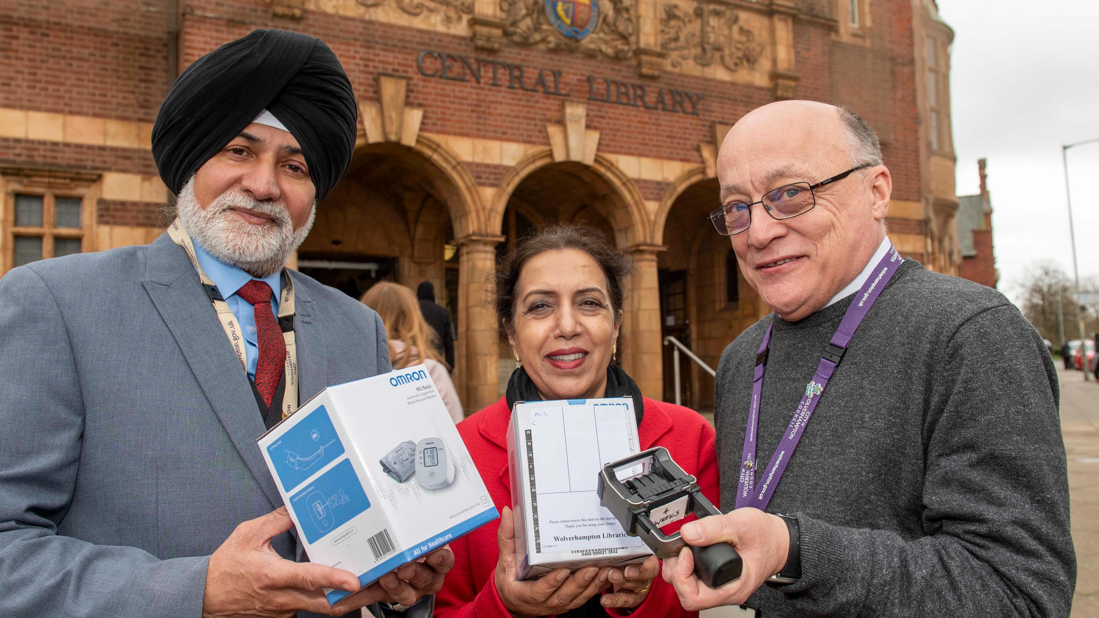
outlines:
[{"label": "red brick Central Library facade with stone arches behind the people", "polygon": [[[674,395],[665,335],[715,366],[766,312],[706,220],[717,145],[777,99],[863,114],[893,174],[890,239],[958,273],[953,33],[933,0],[8,2],[0,273],[155,239],[169,196],[149,132],[164,95],[202,54],[273,26],[323,38],[359,102],[351,169],[296,265],[348,294],[434,282],[467,409],[499,397],[513,366],[486,275],[551,220],[598,227],[633,255],[623,364],[646,395]],[[682,394],[708,407],[712,382],[686,371]]]}]

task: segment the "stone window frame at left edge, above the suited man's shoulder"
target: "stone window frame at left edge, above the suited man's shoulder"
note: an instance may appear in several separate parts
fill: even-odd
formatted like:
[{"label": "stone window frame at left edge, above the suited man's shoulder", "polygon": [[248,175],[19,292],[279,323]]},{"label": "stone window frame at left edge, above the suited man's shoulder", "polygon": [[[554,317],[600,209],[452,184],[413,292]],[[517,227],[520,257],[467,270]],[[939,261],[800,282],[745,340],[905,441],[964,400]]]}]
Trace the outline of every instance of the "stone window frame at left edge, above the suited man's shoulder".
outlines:
[{"label": "stone window frame at left edge, above the suited man's shoulder", "polygon": [[[95,251],[96,201],[100,174],[68,169],[0,168],[0,274],[15,265],[15,236],[41,236],[42,258],[54,254],[54,239],[80,239],[80,252]],[[15,196],[42,196],[42,225],[15,227]],[[80,228],[56,228],[54,199],[80,199]]]}]

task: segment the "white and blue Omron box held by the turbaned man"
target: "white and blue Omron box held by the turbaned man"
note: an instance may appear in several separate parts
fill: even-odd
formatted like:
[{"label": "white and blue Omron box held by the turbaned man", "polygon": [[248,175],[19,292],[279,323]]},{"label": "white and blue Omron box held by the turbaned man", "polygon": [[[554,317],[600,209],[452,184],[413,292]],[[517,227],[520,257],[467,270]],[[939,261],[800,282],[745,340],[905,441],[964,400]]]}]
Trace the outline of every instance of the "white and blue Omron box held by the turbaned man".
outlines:
[{"label": "white and blue Omron box held by the turbaned man", "polygon": [[423,365],[330,386],[258,443],[309,559],[364,586],[498,517]]}]

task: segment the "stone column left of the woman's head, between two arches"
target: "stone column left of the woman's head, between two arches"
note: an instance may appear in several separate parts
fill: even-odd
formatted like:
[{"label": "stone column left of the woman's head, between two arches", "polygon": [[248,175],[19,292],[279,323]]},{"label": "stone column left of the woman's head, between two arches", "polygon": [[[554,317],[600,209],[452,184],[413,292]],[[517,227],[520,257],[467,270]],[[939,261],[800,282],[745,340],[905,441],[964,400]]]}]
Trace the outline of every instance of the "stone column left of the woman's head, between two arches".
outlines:
[{"label": "stone column left of the woman's head, between two arches", "polygon": [[459,378],[455,380],[462,406],[476,412],[499,399],[500,363],[496,344],[496,316],[486,306],[489,273],[496,265],[496,245],[503,236],[470,234],[458,245]]}]

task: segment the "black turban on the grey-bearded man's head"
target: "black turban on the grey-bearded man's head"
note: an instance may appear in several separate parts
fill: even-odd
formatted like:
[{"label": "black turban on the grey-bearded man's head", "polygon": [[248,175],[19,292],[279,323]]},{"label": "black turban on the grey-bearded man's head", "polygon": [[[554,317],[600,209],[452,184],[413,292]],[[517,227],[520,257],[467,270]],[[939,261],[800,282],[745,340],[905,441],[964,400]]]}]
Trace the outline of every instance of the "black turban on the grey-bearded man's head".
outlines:
[{"label": "black turban on the grey-bearded man's head", "polygon": [[298,140],[322,199],[351,163],[355,93],[320,38],[257,30],[195,60],[156,114],[153,158],[179,195],[187,180],[263,110]]}]

